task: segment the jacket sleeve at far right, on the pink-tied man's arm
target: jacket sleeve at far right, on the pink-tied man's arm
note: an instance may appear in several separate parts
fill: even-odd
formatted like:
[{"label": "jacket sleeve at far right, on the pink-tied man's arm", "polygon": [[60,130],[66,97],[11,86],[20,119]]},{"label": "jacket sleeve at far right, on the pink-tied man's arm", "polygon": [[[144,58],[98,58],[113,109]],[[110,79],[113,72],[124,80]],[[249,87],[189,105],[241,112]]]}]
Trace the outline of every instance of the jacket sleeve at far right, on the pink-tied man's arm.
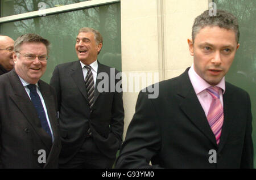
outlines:
[{"label": "jacket sleeve at far right, on the pink-tied man's arm", "polygon": [[253,168],[253,140],[251,138],[252,133],[252,115],[251,115],[251,101],[247,94],[247,123],[246,123],[246,134],[245,142],[243,145],[243,153],[241,160],[241,168]]}]

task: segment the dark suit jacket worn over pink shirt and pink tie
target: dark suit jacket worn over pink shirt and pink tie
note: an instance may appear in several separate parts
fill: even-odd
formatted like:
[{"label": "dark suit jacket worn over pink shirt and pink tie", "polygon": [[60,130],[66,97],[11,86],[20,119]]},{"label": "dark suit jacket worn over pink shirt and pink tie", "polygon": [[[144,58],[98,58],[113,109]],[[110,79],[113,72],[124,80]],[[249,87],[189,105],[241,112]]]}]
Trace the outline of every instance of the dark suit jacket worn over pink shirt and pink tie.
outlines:
[{"label": "dark suit jacket worn over pink shirt and pink tie", "polygon": [[[253,167],[249,95],[226,82],[224,124],[217,145],[188,69],[160,82],[158,98],[139,93],[116,168],[148,168],[150,160],[151,168]],[[217,152],[212,164],[211,149]]]}]

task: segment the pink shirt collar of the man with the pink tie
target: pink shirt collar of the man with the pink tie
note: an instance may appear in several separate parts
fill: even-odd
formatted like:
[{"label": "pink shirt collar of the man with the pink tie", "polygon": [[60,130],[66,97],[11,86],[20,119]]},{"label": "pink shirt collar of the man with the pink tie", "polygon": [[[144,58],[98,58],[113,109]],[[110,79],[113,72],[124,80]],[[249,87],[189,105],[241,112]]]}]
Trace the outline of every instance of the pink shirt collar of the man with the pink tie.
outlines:
[{"label": "pink shirt collar of the man with the pink tie", "polygon": [[[207,83],[203,78],[201,78],[195,71],[194,64],[188,70],[188,76],[191,80],[193,88],[195,89],[196,95],[205,89],[209,88],[211,85]],[[220,83],[216,85],[222,89],[222,93],[225,93],[225,76],[221,79]]]}]

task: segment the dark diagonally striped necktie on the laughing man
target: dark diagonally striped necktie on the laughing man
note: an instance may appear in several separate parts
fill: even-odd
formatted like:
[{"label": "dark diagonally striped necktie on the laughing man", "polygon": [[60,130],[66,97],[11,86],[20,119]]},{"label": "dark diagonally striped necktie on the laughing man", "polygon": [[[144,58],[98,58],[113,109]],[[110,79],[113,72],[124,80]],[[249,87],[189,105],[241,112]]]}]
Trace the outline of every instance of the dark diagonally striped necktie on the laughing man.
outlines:
[{"label": "dark diagonally striped necktie on the laughing man", "polygon": [[88,95],[90,110],[92,110],[94,100],[94,80],[91,67],[89,65],[85,65],[85,68],[88,70],[85,77],[85,86]]}]

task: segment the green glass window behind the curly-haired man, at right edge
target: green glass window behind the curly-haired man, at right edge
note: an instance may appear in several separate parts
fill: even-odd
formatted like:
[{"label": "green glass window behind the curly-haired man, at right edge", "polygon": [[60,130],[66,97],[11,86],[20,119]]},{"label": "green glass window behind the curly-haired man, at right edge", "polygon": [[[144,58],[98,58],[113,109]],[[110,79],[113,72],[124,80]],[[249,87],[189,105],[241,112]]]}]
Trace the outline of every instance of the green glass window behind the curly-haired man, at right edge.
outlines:
[{"label": "green glass window behind the curly-haired man, at right edge", "polygon": [[[253,114],[253,142],[256,154],[256,16],[255,0],[215,0],[218,9],[226,10],[238,18],[240,26],[240,48],[237,50],[233,65],[226,75],[226,81],[245,89],[251,98]],[[256,157],[254,157],[254,168]]]}]

